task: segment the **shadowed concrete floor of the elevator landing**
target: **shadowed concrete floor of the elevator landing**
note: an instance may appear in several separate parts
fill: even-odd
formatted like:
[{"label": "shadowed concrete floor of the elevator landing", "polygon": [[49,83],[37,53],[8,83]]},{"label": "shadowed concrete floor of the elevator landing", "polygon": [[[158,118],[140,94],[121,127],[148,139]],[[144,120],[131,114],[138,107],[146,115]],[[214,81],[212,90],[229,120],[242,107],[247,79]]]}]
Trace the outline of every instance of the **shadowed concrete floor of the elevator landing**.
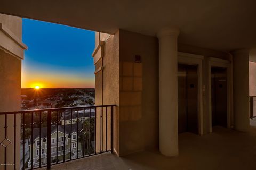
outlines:
[{"label": "shadowed concrete floor of the elevator landing", "polygon": [[211,134],[179,135],[179,157],[143,151],[125,157],[102,154],[52,166],[52,169],[256,169],[256,120],[250,132],[214,127]]}]

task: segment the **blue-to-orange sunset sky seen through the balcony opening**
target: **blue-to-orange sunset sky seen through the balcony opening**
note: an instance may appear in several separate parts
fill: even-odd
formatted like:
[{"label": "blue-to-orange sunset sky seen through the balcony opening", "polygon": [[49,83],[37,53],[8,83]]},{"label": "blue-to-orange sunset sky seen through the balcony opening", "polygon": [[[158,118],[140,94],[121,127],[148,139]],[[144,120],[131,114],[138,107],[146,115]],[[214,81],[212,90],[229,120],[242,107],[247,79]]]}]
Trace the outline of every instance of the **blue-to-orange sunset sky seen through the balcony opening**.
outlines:
[{"label": "blue-to-orange sunset sky seen through the balcony opening", "polygon": [[23,19],[21,88],[94,88],[95,32]]}]

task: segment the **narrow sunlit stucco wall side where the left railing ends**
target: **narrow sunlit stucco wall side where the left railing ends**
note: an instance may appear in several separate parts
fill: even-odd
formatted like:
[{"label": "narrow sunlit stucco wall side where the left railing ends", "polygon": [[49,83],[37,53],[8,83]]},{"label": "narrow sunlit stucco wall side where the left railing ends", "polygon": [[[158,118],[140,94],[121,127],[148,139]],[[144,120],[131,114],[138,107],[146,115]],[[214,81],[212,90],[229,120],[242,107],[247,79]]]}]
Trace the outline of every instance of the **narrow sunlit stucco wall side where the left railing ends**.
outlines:
[{"label": "narrow sunlit stucco wall side where the left railing ends", "polygon": [[[111,35],[104,46],[103,57],[103,103],[113,105],[114,108],[114,148],[119,152],[119,32]],[[110,108],[107,111],[108,127],[107,132],[110,137]],[[105,122],[105,120],[103,120]],[[106,125],[106,124],[105,124]],[[110,139],[108,139],[110,149]]]}]

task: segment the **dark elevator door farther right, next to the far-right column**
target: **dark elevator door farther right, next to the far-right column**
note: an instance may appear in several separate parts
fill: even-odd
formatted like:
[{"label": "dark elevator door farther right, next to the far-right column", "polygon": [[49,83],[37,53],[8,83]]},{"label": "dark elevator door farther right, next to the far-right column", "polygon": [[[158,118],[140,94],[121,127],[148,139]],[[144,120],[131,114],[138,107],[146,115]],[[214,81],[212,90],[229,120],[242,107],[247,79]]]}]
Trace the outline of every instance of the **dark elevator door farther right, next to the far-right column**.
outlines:
[{"label": "dark elevator door farther right, next to the far-right column", "polygon": [[227,69],[212,67],[212,126],[227,127]]}]

